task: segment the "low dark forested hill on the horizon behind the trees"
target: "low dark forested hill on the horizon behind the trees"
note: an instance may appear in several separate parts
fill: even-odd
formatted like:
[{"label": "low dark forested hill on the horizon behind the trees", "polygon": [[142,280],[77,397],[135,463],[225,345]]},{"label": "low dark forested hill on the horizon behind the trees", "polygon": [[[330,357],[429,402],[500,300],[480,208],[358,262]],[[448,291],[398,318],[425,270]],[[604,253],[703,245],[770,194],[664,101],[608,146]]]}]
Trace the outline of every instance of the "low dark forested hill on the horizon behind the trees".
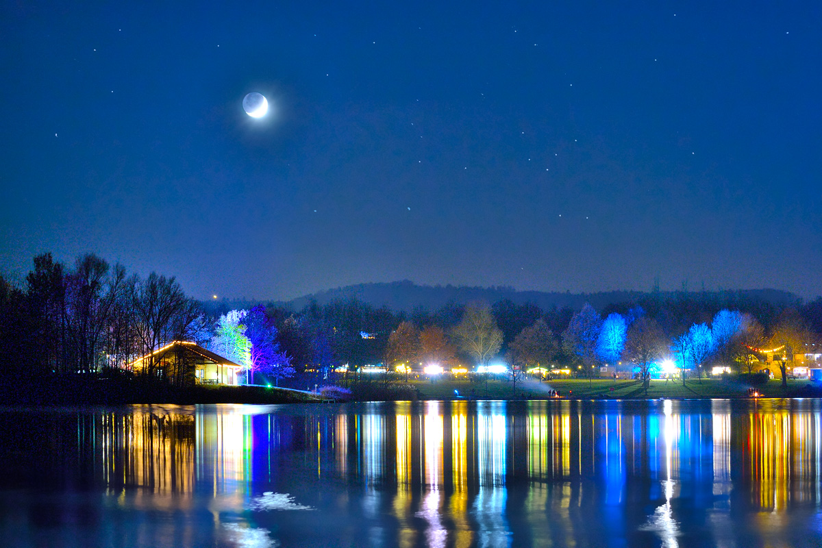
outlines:
[{"label": "low dark forested hill on the horizon behind the trees", "polygon": [[[665,301],[677,299],[677,297],[682,297],[682,295],[681,292],[658,292],[658,297]],[[701,295],[707,297],[709,300],[715,300],[723,306],[739,302],[769,302],[775,306],[789,306],[800,301],[800,298],[793,293],[780,291],[778,289],[744,289],[689,293],[690,297],[694,297],[695,295]],[[404,280],[393,283],[362,283],[359,285],[349,285],[344,288],[329,289],[328,291],[298,297],[283,304],[287,304],[294,311],[299,311],[312,300],[315,300],[317,304],[324,305],[332,301],[354,298],[376,307],[388,306],[391,310],[395,311],[413,311],[415,308],[435,311],[449,302],[458,304],[472,301],[494,303],[508,299],[517,304],[530,302],[540,306],[543,310],[550,309],[552,306],[556,306],[557,308],[568,306],[573,310],[578,310],[585,302],[590,303],[597,310],[602,310],[610,304],[638,302],[640,299],[649,296],[650,293],[648,292],[637,291],[563,293],[517,291],[514,288],[507,287],[469,288],[452,285],[425,286]]]}]

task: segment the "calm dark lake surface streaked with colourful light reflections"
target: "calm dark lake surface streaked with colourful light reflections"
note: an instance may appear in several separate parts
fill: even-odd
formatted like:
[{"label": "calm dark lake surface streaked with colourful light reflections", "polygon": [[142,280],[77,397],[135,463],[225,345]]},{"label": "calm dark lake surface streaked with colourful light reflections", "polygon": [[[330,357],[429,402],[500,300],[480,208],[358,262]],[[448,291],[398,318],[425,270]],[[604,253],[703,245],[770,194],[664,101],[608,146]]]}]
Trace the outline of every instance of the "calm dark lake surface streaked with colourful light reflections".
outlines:
[{"label": "calm dark lake surface streaked with colourful light reflections", "polygon": [[820,413],[0,408],[0,546],[822,546]]}]

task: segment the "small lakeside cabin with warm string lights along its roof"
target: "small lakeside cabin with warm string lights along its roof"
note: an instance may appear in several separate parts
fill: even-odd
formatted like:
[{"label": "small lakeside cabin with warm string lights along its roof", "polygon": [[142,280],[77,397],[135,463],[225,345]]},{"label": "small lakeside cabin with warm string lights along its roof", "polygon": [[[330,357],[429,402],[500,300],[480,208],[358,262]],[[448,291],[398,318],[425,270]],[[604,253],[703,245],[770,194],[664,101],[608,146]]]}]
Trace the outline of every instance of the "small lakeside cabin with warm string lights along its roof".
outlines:
[{"label": "small lakeside cabin with warm string lights along its roof", "polygon": [[134,361],[132,369],[175,385],[238,385],[242,366],[197,343],[174,341]]}]

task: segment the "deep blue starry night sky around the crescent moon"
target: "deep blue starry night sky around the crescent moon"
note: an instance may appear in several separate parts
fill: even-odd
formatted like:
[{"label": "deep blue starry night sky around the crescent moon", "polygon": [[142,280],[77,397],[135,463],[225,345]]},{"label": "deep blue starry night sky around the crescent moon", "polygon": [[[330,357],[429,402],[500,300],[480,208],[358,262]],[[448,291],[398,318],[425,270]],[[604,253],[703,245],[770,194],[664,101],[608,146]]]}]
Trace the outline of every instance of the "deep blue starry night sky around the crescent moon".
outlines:
[{"label": "deep blue starry night sky around the crescent moon", "polygon": [[819,2],[148,3],[2,4],[2,274],[822,293]]}]

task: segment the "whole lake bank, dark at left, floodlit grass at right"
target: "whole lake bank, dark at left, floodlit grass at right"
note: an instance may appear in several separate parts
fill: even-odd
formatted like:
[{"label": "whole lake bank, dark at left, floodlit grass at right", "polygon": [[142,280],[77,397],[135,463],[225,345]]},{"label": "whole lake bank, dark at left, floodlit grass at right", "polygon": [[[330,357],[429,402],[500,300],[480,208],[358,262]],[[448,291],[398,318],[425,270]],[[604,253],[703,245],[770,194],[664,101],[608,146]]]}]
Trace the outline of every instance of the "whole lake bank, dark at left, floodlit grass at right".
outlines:
[{"label": "whole lake bank, dark at left, floodlit grass at right", "polygon": [[[534,400],[562,399],[710,399],[750,398],[755,388],[762,398],[822,398],[822,385],[808,380],[769,380],[751,387],[741,380],[651,380],[647,394],[638,380],[563,379],[510,380],[473,378],[419,378],[411,380],[329,380],[344,386],[335,394],[340,401],[399,400]],[[126,377],[53,375],[0,386],[0,403],[25,405],[130,403],[312,403],[330,401],[329,394],[267,386],[194,385],[174,387]]]}]

